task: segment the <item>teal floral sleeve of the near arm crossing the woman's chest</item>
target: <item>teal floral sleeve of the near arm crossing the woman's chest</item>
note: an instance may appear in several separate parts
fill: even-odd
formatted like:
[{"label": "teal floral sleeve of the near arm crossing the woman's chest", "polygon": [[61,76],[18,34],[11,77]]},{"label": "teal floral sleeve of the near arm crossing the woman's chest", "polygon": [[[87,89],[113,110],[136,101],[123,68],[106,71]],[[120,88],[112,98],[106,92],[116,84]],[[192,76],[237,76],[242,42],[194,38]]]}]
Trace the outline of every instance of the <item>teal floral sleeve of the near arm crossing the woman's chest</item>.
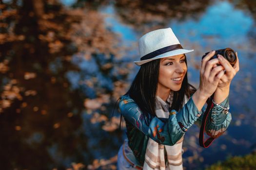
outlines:
[{"label": "teal floral sleeve of the near arm crossing the woman's chest", "polygon": [[138,104],[128,95],[121,97],[119,109],[123,117],[143,134],[164,145],[174,145],[186,132],[185,123],[178,120],[178,115],[181,118],[187,118],[187,123],[194,123],[202,113],[197,110],[192,98],[178,113],[172,110],[168,119],[154,116],[150,116],[149,119],[145,118]]}]

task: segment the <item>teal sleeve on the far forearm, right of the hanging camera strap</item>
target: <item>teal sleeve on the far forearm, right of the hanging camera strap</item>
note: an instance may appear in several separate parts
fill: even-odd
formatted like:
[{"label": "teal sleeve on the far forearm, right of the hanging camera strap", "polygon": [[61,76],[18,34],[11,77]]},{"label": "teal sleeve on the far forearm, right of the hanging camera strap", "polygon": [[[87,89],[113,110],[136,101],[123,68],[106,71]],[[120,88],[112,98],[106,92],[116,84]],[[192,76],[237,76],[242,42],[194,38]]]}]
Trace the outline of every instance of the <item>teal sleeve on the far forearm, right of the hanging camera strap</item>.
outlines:
[{"label": "teal sleeve on the far forearm, right of the hanging camera strap", "polygon": [[[229,107],[229,96],[219,104],[222,107]],[[205,112],[205,108],[202,109],[203,113]],[[196,123],[198,127],[201,126],[203,119],[203,114],[197,119]],[[205,132],[208,136],[217,138],[222,135],[228,126],[230,125],[232,116],[230,112],[223,113],[223,109],[216,104],[208,115],[208,119],[205,125]]]}]

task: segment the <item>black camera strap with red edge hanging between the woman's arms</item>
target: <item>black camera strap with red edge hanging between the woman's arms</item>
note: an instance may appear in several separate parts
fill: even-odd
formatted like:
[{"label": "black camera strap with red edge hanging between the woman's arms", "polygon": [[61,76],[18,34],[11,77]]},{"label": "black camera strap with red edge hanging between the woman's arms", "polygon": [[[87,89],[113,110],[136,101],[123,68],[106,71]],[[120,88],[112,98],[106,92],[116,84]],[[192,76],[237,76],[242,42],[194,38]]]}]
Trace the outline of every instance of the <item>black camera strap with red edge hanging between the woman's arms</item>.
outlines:
[{"label": "black camera strap with red edge hanging between the woman's arms", "polygon": [[213,143],[213,141],[216,139],[216,138],[213,138],[213,137],[209,137],[208,139],[206,139],[205,142],[203,141],[204,140],[203,138],[204,138],[204,130],[205,130],[205,125],[206,125],[206,120],[208,118],[210,110],[214,106],[213,97],[214,97],[214,94],[207,100],[207,108],[206,108],[206,110],[203,114],[202,125],[200,127],[199,145],[203,148],[208,148]]}]

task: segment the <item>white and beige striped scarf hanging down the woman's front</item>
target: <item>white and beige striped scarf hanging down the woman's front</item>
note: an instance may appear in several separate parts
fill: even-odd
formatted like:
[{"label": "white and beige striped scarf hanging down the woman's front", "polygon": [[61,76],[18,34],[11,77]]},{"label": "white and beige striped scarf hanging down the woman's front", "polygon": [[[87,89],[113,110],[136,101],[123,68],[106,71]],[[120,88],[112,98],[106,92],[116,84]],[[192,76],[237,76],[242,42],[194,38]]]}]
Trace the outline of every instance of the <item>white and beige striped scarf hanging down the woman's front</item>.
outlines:
[{"label": "white and beige striped scarf hanging down the woman's front", "polygon": [[[170,93],[167,102],[157,96],[156,115],[158,118],[169,118],[172,102],[173,93]],[[186,102],[188,99],[185,97],[183,104]],[[183,138],[184,136],[173,146],[162,145],[149,138],[143,170],[183,170],[181,155]]]}]

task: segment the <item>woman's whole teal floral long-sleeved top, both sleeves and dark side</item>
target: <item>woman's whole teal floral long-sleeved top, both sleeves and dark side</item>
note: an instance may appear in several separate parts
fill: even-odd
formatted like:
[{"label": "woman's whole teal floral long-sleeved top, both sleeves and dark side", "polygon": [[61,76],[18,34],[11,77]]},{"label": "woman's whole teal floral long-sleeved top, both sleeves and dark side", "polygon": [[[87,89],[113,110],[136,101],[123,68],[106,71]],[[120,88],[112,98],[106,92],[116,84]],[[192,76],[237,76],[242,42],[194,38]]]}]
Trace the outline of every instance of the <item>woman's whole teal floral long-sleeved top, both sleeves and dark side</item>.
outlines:
[{"label": "woman's whole teal floral long-sleeved top, both sleeves and dark side", "polygon": [[[228,104],[228,97],[220,103],[224,107]],[[146,118],[129,95],[120,98],[119,109],[126,122],[128,145],[134,153],[138,166],[143,166],[149,137],[159,144],[174,145],[194,123],[200,126],[205,111],[205,108],[198,111],[191,97],[179,112],[171,110],[170,112],[176,114],[170,115],[168,119],[157,118],[150,114],[149,118]],[[230,121],[231,114],[223,114],[222,109],[214,105],[205,127],[207,134],[213,137],[221,135]]]}]

